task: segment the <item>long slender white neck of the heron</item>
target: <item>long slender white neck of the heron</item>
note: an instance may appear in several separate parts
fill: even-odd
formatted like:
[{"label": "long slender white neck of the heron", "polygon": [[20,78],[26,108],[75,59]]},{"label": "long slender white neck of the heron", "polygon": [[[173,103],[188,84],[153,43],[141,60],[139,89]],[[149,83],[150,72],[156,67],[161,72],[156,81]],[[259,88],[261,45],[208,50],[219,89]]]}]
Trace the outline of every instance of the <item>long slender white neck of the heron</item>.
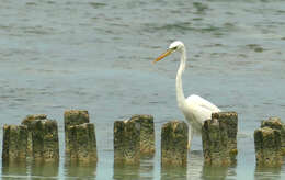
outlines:
[{"label": "long slender white neck of the heron", "polygon": [[178,99],[178,105],[180,108],[183,108],[186,105],[186,100],[183,92],[182,87],[182,74],[186,67],[186,50],[185,48],[182,48],[181,50],[181,59],[180,59],[180,66],[176,75],[176,99]]}]

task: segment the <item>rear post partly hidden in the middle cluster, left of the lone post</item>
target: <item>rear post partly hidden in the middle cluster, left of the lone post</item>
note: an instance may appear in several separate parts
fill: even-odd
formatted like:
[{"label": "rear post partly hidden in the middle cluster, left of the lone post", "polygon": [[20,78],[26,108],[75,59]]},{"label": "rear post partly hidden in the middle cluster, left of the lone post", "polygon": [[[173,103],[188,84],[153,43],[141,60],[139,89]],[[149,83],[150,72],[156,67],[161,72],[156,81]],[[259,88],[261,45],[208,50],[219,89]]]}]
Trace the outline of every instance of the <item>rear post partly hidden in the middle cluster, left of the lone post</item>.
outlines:
[{"label": "rear post partly hidden in the middle cluster, left of the lone post", "polygon": [[152,156],[156,151],[155,124],[152,115],[133,115],[130,121],[140,124],[140,155]]}]

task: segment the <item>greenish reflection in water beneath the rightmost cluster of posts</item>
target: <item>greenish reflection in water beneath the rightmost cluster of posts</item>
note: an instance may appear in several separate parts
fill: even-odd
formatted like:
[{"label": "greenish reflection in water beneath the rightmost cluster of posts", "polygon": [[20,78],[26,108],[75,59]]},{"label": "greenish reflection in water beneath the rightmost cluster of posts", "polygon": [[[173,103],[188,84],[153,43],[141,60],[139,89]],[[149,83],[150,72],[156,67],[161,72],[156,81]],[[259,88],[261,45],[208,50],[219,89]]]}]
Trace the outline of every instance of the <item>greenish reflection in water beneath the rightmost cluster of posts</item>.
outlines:
[{"label": "greenish reflection in water beneath the rightmost cluster of posts", "polygon": [[282,179],[281,167],[255,167],[254,179],[255,180],[271,180]]}]

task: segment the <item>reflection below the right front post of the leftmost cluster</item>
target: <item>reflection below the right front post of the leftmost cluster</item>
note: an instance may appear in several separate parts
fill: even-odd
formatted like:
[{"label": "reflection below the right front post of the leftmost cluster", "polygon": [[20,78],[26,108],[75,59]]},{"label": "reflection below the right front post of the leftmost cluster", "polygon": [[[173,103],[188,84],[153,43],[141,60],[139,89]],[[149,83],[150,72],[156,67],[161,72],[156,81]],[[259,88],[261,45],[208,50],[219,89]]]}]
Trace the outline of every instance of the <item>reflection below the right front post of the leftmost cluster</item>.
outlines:
[{"label": "reflection below the right front post of the leftmost cluster", "polygon": [[58,176],[59,161],[32,161],[31,165],[31,177],[33,179],[50,179]]}]

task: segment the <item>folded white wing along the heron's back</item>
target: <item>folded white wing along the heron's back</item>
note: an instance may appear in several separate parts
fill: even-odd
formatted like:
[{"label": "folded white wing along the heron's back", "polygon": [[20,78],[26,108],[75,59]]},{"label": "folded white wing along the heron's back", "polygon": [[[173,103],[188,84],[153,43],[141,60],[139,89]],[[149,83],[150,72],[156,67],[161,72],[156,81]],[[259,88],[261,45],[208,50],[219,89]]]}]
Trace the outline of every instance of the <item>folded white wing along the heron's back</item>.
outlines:
[{"label": "folded white wing along the heron's back", "polygon": [[216,105],[214,105],[209,101],[205,100],[204,98],[201,98],[200,95],[195,95],[195,94],[190,95],[186,99],[186,102],[191,103],[192,105],[197,105],[203,109],[206,109],[207,111],[210,111],[210,112],[220,112],[220,110]]}]

